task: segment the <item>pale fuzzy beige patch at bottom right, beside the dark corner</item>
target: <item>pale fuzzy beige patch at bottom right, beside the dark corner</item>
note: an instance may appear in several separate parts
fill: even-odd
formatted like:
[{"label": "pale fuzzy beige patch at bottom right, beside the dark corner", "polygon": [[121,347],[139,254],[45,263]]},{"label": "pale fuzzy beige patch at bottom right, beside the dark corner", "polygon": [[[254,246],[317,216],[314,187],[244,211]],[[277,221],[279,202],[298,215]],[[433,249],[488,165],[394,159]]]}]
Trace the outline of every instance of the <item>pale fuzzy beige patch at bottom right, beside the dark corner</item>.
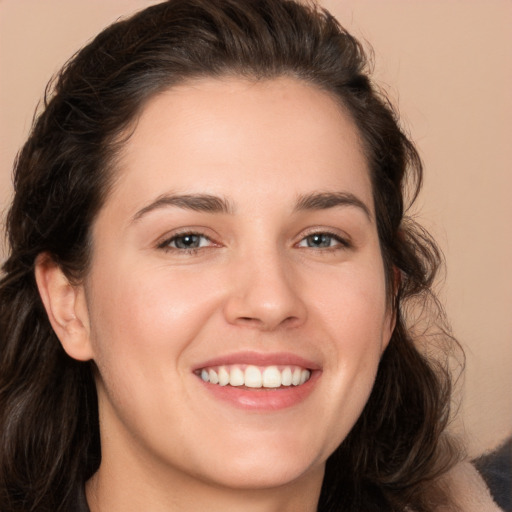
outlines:
[{"label": "pale fuzzy beige patch at bottom right, beside the dark corner", "polygon": [[[461,512],[502,511],[493,501],[480,473],[470,462],[460,462],[442,478],[443,486],[448,490],[456,505],[455,510]],[[438,512],[452,512],[452,510],[442,508]]]}]

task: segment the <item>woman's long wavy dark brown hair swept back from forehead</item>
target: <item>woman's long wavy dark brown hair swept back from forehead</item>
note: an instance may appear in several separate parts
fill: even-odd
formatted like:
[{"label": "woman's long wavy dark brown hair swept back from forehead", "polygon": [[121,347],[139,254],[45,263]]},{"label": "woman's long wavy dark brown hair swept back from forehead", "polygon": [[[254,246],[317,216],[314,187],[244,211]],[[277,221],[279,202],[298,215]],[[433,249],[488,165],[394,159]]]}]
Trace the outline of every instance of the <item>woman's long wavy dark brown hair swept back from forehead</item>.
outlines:
[{"label": "woman's long wavy dark brown hair swept back from forehead", "polygon": [[[457,456],[444,433],[450,376],[418,350],[404,319],[411,300],[433,304],[442,319],[431,293],[440,253],[404,216],[421,162],[368,67],[361,45],[328,12],[287,0],[170,0],[110,26],[65,66],[18,155],[7,217],[2,511],[69,509],[101,459],[94,363],[68,357],[52,331],[35,284],[37,256],[51,254],[79,281],[122,135],[145,101],[187,80],[229,75],[290,76],[328,91],[352,116],[369,162],[396,327],[363,414],[327,461],[319,510],[421,512],[444,499],[435,481]],[[443,332],[439,339],[450,343]]]}]

